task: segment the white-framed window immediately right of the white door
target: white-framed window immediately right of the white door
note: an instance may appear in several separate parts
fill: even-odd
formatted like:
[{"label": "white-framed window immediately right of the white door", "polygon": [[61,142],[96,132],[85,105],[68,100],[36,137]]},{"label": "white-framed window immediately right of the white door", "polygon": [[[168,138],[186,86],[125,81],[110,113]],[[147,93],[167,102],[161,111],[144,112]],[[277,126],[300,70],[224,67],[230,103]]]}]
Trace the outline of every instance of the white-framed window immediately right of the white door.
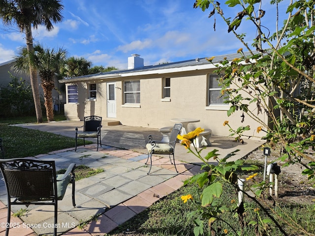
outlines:
[{"label": "white-framed window immediately right of the white door", "polygon": [[140,80],[124,82],[124,103],[140,104]]}]

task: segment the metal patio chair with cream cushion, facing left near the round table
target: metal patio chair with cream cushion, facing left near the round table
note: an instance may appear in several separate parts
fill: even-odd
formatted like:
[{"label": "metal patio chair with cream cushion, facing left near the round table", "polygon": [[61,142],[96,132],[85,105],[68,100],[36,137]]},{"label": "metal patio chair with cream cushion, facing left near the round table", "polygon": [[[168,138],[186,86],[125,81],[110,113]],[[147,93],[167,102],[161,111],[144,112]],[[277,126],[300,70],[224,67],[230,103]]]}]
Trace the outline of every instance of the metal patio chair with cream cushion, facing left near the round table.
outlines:
[{"label": "metal patio chair with cream cushion, facing left near the round table", "polygon": [[[171,155],[173,155],[173,162],[174,162],[174,166],[175,166],[175,170],[177,171],[176,168],[176,164],[175,164],[175,157],[174,157],[174,152],[175,152],[175,144],[177,141],[177,135],[181,132],[183,125],[181,123],[175,124],[172,132],[169,136],[169,142],[163,142],[163,141],[158,141],[158,140],[154,140],[154,138],[157,139],[156,135],[149,135],[148,139],[149,139],[149,143],[146,145],[147,149],[148,149],[148,159],[146,161],[146,164],[149,161],[151,161],[151,165],[150,165],[150,170],[148,172],[148,175],[150,174],[151,168],[152,168],[152,155],[153,154],[168,154],[169,155],[169,159],[172,163],[172,159],[171,159]],[[160,137],[161,139],[162,137]]]}]

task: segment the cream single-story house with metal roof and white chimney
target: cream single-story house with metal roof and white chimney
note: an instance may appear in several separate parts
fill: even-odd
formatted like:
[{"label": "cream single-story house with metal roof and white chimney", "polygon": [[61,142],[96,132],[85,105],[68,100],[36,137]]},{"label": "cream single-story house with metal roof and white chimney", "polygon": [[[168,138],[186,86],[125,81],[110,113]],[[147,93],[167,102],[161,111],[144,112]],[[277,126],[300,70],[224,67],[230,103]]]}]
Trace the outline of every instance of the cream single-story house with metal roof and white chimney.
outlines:
[{"label": "cream single-story house with metal roof and white chimney", "polygon": [[[213,62],[224,57],[232,60],[239,55],[217,56]],[[223,126],[224,120],[229,120],[235,129],[250,125],[246,134],[257,136],[255,130],[260,124],[256,121],[246,117],[241,123],[241,112],[227,117],[229,105],[220,97],[216,69],[205,58],[144,66],[144,60],[134,54],[128,58],[126,70],[59,81],[66,84],[65,116],[68,120],[83,120],[96,115],[124,125],[151,128],[172,126],[172,118],[198,118],[200,122],[189,124],[191,129],[208,128],[220,136],[230,134]],[[256,109],[255,104],[251,108]]]}]

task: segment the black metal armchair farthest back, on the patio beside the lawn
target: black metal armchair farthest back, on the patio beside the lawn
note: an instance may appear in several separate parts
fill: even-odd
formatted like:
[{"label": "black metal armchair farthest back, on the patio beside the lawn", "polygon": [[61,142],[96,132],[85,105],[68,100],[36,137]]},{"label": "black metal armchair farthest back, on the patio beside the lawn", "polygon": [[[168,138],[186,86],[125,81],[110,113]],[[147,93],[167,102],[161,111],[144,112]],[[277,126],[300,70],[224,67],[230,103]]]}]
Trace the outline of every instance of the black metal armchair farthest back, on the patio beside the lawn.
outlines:
[{"label": "black metal armchair farthest back, on the patio beside the lawn", "polygon": [[[84,125],[81,126],[83,128],[83,132],[78,131],[78,127],[75,128],[75,151],[77,150],[77,139],[83,138],[83,145],[85,146],[85,138],[97,138],[97,151],[98,144],[102,147],[102,143],[100,140],[100,129],[102,127],[102,118],[97,116],[90,116],[84,118]],[[80,128],[80,127],[79,127]]]}]

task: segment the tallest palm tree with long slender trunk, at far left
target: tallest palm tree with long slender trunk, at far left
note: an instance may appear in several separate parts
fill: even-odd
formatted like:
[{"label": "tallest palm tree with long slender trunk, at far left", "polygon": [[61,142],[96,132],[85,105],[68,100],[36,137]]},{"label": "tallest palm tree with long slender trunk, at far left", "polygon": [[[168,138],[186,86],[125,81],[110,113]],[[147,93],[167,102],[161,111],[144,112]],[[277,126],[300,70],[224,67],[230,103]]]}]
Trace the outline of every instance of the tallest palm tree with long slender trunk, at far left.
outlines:
[{"label": "tallest palm tree with long slender trunk, at far left", "polygon": [[[62,21],[61,11],[63,5],[60,0],[0,0],[0,19],[3,24],[11,26],[16,24],[26,35],[26,47],[33,53],[32,27],[45,25],[47,30],[54,29],[52,23]],[[31,65],[31,63],[30,63]],[[35,104],[37,122],[43,122],[41,114],[39,86],[36,69],[29,66],[32,93]]]}]

